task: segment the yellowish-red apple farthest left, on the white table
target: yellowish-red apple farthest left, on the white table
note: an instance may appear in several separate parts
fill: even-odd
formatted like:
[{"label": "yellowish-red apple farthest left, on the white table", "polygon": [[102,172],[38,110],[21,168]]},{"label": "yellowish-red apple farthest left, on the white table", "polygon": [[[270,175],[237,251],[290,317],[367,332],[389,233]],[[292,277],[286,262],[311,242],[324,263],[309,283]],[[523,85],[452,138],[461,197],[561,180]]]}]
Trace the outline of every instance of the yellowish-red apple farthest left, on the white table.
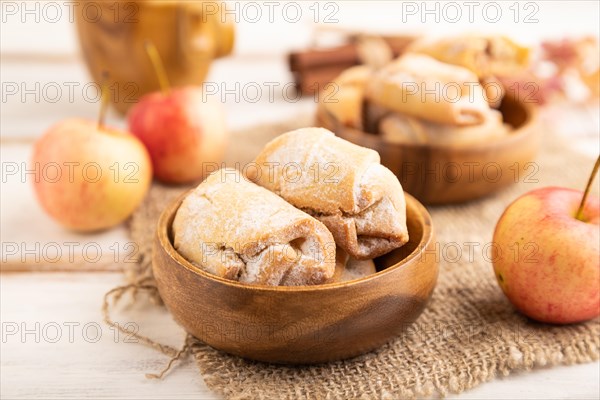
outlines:
[{"label": "yellowish-red apple farthest left, on the white table", "polygon": [[77,231],[105,229],[125,220],[152,180],[143,144],[125,131],[69,119],[35,144],[30,170],[46,212]]}]

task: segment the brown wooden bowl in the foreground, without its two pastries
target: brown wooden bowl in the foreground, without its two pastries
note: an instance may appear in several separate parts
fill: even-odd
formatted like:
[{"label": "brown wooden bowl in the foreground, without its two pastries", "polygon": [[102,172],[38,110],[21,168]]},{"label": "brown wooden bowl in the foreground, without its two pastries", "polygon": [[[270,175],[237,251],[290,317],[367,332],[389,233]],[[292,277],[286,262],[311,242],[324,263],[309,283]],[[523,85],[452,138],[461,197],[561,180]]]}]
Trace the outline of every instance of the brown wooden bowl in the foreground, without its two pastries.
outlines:
[{"label": "brown wooden bowl in the foreground, without its two pastries", "polygon": [[174,248],[171,225],[183,198],[160,217],[153,251],[160,295],[175,320],[208,345],[244,358],[312,364],[384,344],[421,314],[438,267],[431,217],[407,195],[410,241],[375,260],[379,272],[317,286],[252,286],[219,278]]}]

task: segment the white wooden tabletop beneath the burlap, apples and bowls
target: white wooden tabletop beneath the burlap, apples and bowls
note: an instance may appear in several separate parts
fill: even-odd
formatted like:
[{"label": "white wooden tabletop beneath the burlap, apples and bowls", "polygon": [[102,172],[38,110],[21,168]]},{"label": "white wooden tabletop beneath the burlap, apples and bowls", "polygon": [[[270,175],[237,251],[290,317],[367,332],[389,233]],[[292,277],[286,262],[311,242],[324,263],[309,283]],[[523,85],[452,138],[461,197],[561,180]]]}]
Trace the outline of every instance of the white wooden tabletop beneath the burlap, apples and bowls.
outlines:
[{"label": "white wooden tabletop beneath the burlap, apples and bowls", "polygon": [[[552,32],[560,23],[568,25],[568,32],[560,34],[598,34],[598,21],[594,18],[594,15],[598,15],[597,5],[594,6],[594,14],[589,11],[590,3],[570,2],[567,8],[555,3],[559,2],[541,7],[540,16],[545,23],[536,25],[531,37]],[[378,6],[365,6],[360,2],[340,3],[339,17],[346,26],[398,29],[393,13],[376,12],[377,8],[373,7],[396,7],[397,11],[400,6],[390,3]],[[481,25],[477,26],[486,28]],[[409,21],[405,26],[420,30],[430,27],[424,27],[419,21]],[[452,25],[446,24],[446,28],[448,26]],[[242,85],[247,82],[279,82],[283,85],[290,82],[284,54],[291,47],[306,45],[311,39],[309,25],[300,24],[292,28],[281,21],[274,24],[242,21],[239,26],[242,38],[236,57],[216,62],[208,79],[228,85],[235,85],[236,82]],[[531,26],[508,24],[505,28],[516,32],[531,31]],[[70,24],[64,21],[57,24],[26,21],[23,24],[9,18],[6,23],[3,21],[1,29],[3,85],[7,82],[30,86],[36,82],[42,86],[47,82],[89,82],[76,50]],[[282,35],[283,29],[290,33]],[[39,40],[32,39],[34,36]],[[43,40],[44,37],[52,40]],[[265,43],[270,44],[268,49]],[[270,101],[265,94],[257,103],[227,99],[226,107],[230,126],[237,128],[311,112],[314,103],[311,99],[286,102],[281,96]],[[82,101],[81,98],[74,101],[64,98],[56,103],[44,101],[43,98],[34,101],[31,97],[21,101],[20,96],[2,99],[0,397],[215,398],[191,360],[178,364],[162,381],[146,379],[145,373],[156,372],[164,367],[166,357],[140,344],[126,343],[124,335],[116,335],[114,330],[103,324],[100,313],[102,297],[124,280],[122,274],[115,271],[113,262],[115,246],[124,249],[129,241],[124,228],[117,227],[96,235],[67,232],[42,212],[27,179],[7,173],[9,165],[19,166],[28,160],[31,151],[28,138],[39,136],[52,123],[66,117],[94,118],[96,110],[97,104]],[[592,126],[596,127],[597,133],[597,114],[592,118],[596,118]],[[110,122],[124,125],[124,120],[116,115],[110,116]],[[597,137],[586,137],[585,142],[574,140],[574,145],[584,150],[587,148],[588,151],[597,149]],[[72,263],[69,262],[70,254],[65,252],[64,244],[67,242],[77,243]],[[63,249],[60,263],[49,262],[42,255],[41,261],[35,266],[41,272],[7,272],[23,270],[19,268],[19,257],[25,257],[25,261],[30,262],[36,254],[40,254],[40,250],[35,249],[36,245],[43,249],[50,243],[57,243]],[[84,257],[81,250],[77,249],[88,243],[96,243],[104,257],[82,267],[80,262]],[[17,246],[15,254],[12,254],[15,249],[13,245]],[[32,253],[24,253],[24,250],[32,248]],[[119,253],[117,267],[124,257],[123,253]],[[65,265],[65,270],[79,271],[44,272],[56,269],[58,264]],[[121,323],[127,323],[130,318],[140,324],[143,332],[151,333],[157,340],[174,347],[181,345],[183,332],[166,312],[154,310],[149,316],[147,309],[134,308],[127,309],[126,315],[119,319]],[[600,364],[591,363],[499,378],[458,397],[599,398],[599,382]]]}]

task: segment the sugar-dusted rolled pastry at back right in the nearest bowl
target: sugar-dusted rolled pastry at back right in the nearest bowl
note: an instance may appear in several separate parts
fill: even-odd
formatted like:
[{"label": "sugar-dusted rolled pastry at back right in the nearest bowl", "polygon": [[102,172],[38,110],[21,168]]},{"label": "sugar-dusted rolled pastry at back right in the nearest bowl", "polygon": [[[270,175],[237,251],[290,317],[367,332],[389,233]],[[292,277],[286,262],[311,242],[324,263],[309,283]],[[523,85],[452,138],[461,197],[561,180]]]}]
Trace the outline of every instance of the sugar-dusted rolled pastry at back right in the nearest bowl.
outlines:
[{"label": "sugar-dusted rolled pastry at back right in the nearest bowl", "polygon": [[[323,222],[353,257],[374,258],[408,241],[402,186],[374,150],[304,128],[272,140],[255,163],[255,182]],[[304,175],[290,176],[290,165]],[[335,174],[315,179],[314,165],[334,165]]]}]

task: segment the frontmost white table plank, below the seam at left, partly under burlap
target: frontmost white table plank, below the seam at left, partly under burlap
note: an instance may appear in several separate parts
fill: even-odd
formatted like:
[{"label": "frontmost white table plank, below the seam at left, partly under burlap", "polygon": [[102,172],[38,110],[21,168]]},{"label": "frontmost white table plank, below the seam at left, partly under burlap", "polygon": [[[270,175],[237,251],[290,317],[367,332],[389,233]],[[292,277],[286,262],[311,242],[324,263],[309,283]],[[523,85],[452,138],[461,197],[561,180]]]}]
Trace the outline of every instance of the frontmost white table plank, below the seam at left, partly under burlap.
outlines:
[{"label": "frontmost white table plank, below the seam at left, partly under burlap", "polygon": [[[144,398],[212,399],[193,361],[178,365],[164,380],[147,380],[167,358],[140,344],[115,342],[114,333],[102,322],[104,293],[122,283],[115,273],[89,274],[2,274],[0,275],[0,315],[2,321],[2,398]],[[121,318],[117,318],[118,315]],[[178,347],[182,330],[165,312],[149,307],[125,308],[115,320],[136,321],[140,332],[162,343]],[[36,331],[21,337],[24,328]],[[56,343],[56,330],[62,336]],[[69,341],[69,323],[73,328]],[[15,324],[19,331],[8,335]],[[88,328],[86,340],[83,327]],[[101,328],[96,343],[94,324]],[[44,339],[45,338],[45,339]],[[451,398],[464,399],[592,399],[600,397],[600,364],[556,367],[512,375],[483,384]]]}]

